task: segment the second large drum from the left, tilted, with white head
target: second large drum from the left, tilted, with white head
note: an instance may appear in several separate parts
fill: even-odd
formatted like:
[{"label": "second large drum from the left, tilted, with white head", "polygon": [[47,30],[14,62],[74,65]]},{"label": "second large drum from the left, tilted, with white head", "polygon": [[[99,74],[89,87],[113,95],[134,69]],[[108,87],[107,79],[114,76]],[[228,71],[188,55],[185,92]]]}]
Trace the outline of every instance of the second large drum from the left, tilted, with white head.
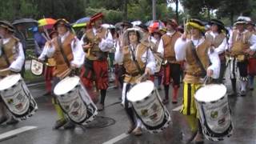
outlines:
[{"label": "second large drum from the left, tilted, with white head", "polygon": [[97,107],[90,99],[78,76],[66,77],[54,87],[54,94],[62,110],[79,125],[86,125],[98,114]]}]

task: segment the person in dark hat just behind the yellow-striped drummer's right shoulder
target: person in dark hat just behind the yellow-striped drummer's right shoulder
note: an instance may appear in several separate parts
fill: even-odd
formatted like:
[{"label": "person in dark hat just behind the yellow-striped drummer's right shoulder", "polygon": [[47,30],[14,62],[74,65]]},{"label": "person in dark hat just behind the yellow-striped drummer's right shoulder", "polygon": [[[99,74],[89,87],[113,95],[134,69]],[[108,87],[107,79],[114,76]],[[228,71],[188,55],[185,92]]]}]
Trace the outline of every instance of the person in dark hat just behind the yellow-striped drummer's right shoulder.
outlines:
[{"label": "person in dark hat just behind the yellow-striped drummer's right shoulder", "polygon": [[218,19],[211,19],[210,30],[206,32],[206,38],[212,42],[212,47],[221,60],[221,69],[217,82],[222,83],[226,69],[225,50],[227,46],[226,28],[223,22]]}]

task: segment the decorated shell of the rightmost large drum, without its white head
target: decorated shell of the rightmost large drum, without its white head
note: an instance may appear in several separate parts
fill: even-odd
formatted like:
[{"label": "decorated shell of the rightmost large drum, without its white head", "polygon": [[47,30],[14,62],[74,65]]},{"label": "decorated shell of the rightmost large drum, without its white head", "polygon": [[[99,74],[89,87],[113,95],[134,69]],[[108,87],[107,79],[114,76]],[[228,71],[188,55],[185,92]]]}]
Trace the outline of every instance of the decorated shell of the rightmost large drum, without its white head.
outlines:
[{"label": "decorated shell of the rightmost large drum, without its white head", "polygon": [[195,102],[200,115],[203,134],[211,141],[220,141],[230,137],[233,124],[227,94],[214,102]]}]

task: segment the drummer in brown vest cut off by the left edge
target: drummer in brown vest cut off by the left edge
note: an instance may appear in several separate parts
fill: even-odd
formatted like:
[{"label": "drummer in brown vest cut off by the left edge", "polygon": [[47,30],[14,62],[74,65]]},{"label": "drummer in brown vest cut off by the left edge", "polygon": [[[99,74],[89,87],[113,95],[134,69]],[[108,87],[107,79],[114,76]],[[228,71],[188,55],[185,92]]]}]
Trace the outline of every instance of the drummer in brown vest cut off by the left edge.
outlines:
[{"label": "drummer in brown vest cut off by the left edge", "polygon": [[[25,56],[23,53],[22,43],[14,37],[14,26],[10,22],[0,21],[0,78],[9,74],[20,73]],[[0,98],[0,124],[8,120],[6,107]],[[13,117],[6,122],[7,125],[16,124],[18,120]]]}]

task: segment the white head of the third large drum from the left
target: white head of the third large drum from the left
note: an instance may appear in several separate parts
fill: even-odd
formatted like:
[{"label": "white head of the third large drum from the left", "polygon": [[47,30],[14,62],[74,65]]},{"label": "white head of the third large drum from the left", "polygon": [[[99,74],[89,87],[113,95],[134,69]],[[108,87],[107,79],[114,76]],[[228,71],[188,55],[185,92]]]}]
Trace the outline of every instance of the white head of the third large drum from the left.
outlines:
[{"label": "white head of the third large drum from the left", "polygon": [[151,81],[141,82],[135,85],[130,89],[127,94],[127,99],[130,102],[141,101],[150,95],[150,93],[154,90],[154,83]]}]

